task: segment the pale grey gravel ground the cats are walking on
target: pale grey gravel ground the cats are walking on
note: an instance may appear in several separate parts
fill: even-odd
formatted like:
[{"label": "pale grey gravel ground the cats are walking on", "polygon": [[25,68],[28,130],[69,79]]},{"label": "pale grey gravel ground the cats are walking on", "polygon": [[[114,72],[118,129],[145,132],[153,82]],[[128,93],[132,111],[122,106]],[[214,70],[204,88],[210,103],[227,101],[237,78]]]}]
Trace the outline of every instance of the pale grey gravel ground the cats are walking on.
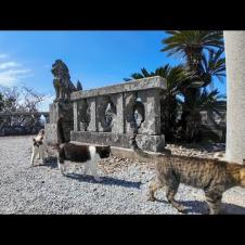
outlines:
[{"label": "pale grey gravel ground the cats are walking on", "polygon": [[[168,145],[175,153],[212,157],[212,150]],[[109,158],[100,163],[103,181],[81,177],[83,166],[69,165],[62,177],[55,162],[29,167],[31,137],[0,138],[0,214],[179,214],[167,203],[164,190],[157,202],[149,202],[146,192],[154,178],[152,164]],[[189,214],[205,214],[202,190],[180,185],[177,199]],[[245,214],[245,190],[224,193],[227,214]]]}]

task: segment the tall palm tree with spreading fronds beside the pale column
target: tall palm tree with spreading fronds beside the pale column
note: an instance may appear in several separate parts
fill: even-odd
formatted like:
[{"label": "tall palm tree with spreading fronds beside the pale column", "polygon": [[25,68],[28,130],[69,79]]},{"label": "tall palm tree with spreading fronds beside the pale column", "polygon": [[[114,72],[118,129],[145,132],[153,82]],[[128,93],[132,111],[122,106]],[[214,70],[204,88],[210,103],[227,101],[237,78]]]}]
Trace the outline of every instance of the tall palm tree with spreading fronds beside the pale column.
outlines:
[{"label": "tall palm tree with spreading fronds beside the pale column", "polygon": [[165,48],[160,51],[184,59],[185,69],[192,75],[182,89],[185,106],[183,106],[181,126],[185,131],[186,119],[192,115],[190,105],[201,96],[202,88],[210,85],[214,76],[224,75],[224,59],[221,57],[223,37],[222,31],[217,30],[171,30],[166,33],[169,37],[162,41]]}]

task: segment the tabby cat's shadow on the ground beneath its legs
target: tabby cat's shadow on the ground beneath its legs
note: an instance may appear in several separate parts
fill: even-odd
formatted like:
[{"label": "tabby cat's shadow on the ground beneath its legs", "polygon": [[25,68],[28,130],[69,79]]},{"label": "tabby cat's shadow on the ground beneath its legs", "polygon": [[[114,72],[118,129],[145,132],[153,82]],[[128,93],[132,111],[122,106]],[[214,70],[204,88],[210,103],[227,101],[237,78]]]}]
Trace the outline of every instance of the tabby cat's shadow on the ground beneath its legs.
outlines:
[{"label": "tabby cat's shadow on the ground beneath its legs", "polygon": [[[156,202],[170,205],[165,199],[156,199]],[[208,205],[201,201],[179,201],[185,207],[185,214],[202,214],[208,215]],[[245,215],[245,208],[235,204],[221,204],[221,215]]]}]

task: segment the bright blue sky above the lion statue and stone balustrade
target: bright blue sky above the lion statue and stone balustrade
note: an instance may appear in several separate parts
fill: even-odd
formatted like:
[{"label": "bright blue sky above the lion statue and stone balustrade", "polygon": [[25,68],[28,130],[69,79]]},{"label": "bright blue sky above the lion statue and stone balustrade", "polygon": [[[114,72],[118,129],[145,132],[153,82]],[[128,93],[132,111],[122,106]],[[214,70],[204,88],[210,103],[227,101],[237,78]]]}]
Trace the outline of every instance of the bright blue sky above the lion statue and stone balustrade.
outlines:
[{"label": "bright blue sky above the lion statue and stone balustrade", "polygon": [[[164,31],[0,31],[0,85],[25,85],[47,94],[40,108],[48,111],[56,59],[83,90],[120,83],[142,67],[154,70],[181,62],[159,52],[165,37]],[[225,81],[216,86],[225,93]]]}]

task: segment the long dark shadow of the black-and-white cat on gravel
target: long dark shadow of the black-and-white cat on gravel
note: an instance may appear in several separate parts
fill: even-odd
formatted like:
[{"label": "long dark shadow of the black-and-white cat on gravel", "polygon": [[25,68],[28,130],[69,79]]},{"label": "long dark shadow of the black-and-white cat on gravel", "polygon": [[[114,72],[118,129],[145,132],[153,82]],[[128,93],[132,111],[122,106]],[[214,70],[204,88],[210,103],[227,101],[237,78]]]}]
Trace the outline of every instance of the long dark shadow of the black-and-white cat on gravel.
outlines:
[{"label": "long dark shadow of the black-and-white cat on gravel", "polygon": [[67,173],[65,177],[78,180],[80,182],[101,183],[101,184],[107,184],[107,185],[119,185],[119,186],[124,186],[124,188],[134,188],[134,189],[140,189],[140,185],[142,184],[141,182],[120,180],[120,179],[115,179],[112,177],[100,177],[102,180],[101,182],[96,182],[92,176],[82,177],[82,175],[78,175],[78,173]]}]

